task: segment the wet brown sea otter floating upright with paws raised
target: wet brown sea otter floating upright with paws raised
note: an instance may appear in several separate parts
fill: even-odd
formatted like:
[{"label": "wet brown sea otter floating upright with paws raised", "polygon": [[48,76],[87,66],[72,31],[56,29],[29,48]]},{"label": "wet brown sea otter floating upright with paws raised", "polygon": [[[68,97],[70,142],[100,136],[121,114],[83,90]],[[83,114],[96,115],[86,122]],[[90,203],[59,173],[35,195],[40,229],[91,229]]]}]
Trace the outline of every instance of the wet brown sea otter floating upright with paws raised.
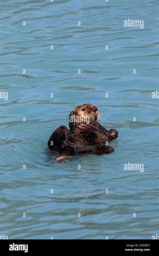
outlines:
[{"label": "wet brown sea otter floating upright with paws raised", "polygon": [[105,129],[97,122],[98,117],[98,108],[89,103],[75,107],[71,111],[70,130],[61,125],[48,141],[49,149],[60,153],[54,162],[65,162],[77,153],[103,155],[114,151],[106,142],[116,139],[118,132]]}]

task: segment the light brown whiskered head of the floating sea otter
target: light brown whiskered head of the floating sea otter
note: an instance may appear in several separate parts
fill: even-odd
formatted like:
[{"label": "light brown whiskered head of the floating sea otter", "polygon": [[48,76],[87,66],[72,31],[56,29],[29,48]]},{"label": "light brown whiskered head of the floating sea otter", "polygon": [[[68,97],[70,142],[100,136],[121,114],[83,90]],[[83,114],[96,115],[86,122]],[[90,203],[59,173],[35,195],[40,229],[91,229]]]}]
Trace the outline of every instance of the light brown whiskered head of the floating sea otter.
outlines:
[{"label": "light brown whiskered head of the floating sea otter", "polygon": [[72,132],[74,128],[81,128],[82,126],[90,123],[96,123],[98,117],[98,108],[93,104],[87,103],[75,107],[69,115],[70,131]]}]

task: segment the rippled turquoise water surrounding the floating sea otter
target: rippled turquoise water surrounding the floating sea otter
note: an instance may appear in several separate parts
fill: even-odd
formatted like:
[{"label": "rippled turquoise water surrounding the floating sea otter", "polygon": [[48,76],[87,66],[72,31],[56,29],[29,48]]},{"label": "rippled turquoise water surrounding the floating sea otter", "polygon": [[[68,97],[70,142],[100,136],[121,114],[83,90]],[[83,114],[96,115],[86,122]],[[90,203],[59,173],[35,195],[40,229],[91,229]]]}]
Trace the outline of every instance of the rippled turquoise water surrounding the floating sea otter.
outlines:
[{"label": "rippled turquoise water surrounding the floating sea otter", "polygon": [[[151,239],[159,232],[158,1],[14,0],[1,8],[8,100],[0,99],[0,235]],[[124,27],[125,19],[144,28]],[[115,152],[52,164],[50,135],[83,103],[118,130]],[[124,170],[128,162],[144,171]]]}]

